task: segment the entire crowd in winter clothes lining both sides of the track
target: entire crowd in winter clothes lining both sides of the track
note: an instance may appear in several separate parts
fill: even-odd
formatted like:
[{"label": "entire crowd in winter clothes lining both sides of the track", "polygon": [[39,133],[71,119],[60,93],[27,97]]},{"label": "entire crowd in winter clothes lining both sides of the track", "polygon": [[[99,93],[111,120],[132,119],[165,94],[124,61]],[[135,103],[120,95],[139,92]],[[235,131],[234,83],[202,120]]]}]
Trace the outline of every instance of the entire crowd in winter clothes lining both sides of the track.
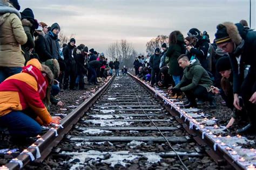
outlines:
[{"label": "entire crowd in winter clothes lining both sides of the track", "polygon": [[[48,111],[50,104],[63,106],[56,98],[59,91],[83,90],[84,77],[89,85],[98,84],[113,69],[119,76],[120,65],[84,44],[76,46],[75,38],[60,44],[58,23],[48,26],[31,9],[20,8],[17,0],[0,0],[0,125],[19,140],[41,133],[41,125],[60,123]],[[136,75],[151,86],[169,88],[173,98],[186,96],[186,108],[205,101],[214,108],[214,94],[220,94],[234,112],[227,127],[244,116],[250,123],[238,132],[253,130],[256,33],[246,24],[219,24],[212,44],[206,31],[190,29],[186,38],[173,31],[162,52],[156,48],[135,59]]]}]

